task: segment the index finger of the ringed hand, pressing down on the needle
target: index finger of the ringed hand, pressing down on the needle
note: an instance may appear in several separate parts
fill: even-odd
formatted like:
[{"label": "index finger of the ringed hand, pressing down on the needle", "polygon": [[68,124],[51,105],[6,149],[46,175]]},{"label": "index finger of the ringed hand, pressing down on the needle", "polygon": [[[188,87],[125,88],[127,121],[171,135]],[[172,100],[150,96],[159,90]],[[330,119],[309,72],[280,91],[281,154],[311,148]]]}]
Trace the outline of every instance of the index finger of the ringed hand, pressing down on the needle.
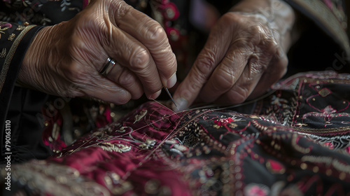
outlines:
[{"label": "index finger of the ringed hand, pressing down on the needle", "polygon": [[124,1],[113,2],[117,8],[114,15],[117,27],[146,46],[157,66],[162,84],[173,87],[176,83],[176,57],[165,30],[158,22],[131,6],[122,8]]}]

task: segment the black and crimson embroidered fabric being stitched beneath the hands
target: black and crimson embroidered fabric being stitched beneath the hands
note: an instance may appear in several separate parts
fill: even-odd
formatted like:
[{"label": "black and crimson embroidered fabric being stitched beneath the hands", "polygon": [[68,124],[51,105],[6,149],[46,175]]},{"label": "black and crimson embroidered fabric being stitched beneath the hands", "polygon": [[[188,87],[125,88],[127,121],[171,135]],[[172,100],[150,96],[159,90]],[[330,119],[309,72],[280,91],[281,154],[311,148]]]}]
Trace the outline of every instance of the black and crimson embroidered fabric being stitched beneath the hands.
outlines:
[{"label": "black and crimson embroidered fabric being stitched beneath the hands", "polygon": [[148,102],[48,160],[13,166],[13,181],[46,195],[87,184],[100,195],[349,195],[348,88],[349,74],[326,71],[238,107]]}]

